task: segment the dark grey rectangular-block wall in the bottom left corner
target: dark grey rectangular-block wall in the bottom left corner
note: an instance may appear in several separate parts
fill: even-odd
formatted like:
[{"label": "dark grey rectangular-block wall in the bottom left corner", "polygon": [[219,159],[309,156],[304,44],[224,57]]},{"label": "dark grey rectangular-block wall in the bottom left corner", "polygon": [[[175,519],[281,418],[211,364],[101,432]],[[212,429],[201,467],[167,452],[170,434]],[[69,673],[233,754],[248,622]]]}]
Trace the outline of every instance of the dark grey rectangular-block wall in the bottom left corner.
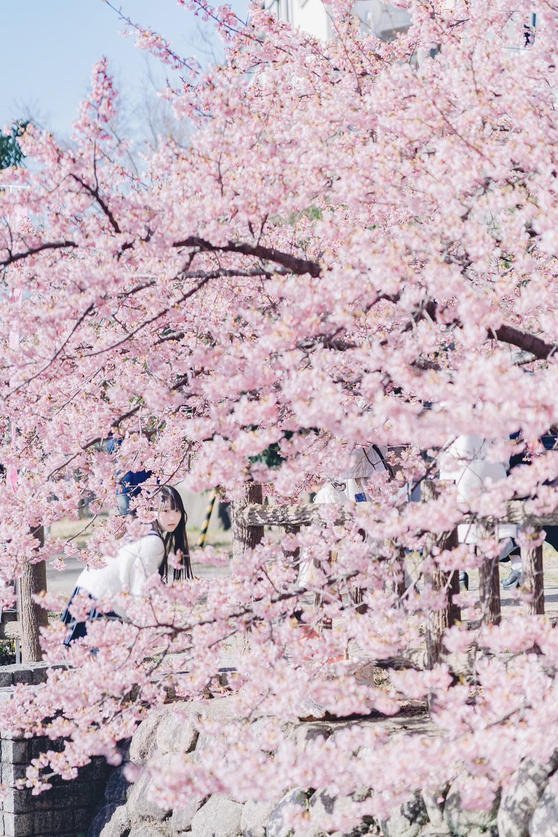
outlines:
[{"label": "dark grey rectangular-block wall in the bottom left corner", "polygon": [[[0,668],[0,701],[12,696],[17,683],[39,684],[46,679],[43,663],[4,665]],[[12,785],[25,777],[26,768],[40,752],[53,749],[48,738],[17,738],[0,731],[1,778]],[[79,837],[85,835],[103,798],[110,768],[95,758],[79,770],[77,779],[55,778],[53,787],[33,796],[29,788],[11,788],[0,801],[0,837]]]}]

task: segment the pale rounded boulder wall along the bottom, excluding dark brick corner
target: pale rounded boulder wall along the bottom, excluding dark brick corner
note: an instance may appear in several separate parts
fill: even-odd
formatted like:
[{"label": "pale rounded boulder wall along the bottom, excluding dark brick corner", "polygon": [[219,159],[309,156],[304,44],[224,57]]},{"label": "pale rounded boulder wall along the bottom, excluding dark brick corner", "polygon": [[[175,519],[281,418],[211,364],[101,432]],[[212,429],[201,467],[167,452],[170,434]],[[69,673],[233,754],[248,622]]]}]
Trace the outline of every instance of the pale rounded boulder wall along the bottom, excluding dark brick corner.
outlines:
[{"label": "pale rounded boulder wall along the bottom, excluding dark brick corner", "polygon": [[[202,711],[227,715],[227,699],[207,701]],[[192,719],[184,716],[185,705],[168,705],[151,711],[131,740],[130,759],[143,768],[151,760],[165,768],[172,753],[190,752],[203,757],[214,745],[205,733],[198,735],[196,707]],[[229,714],[229,717],[231,715]],[[257,721],[256,721],[257,722]],[[382,723],[390,734],[430,731],[427,717],[397,718],[386,721],[348,721],[354,724]],[[346,723],[308,721],[287,725],[288,735],[297,751],[304,750],[315,737],[335,736]],[[359,752],[359,758],[374,757],[373,752]],[[223,793],[192,797],[182,809],[161,809],[151,801],[151,778],[143,769],[136,783],[126,782],[122,768],[110,778],[105,801],[93,820],[88,837],[298,837],[287,816],[293,810],[303,815],[304,837],[558,837],[558,752],[549,763],[524,763],[513,782],[497,798],[490,811],[463,809],[458,777],[455,783],[436,793],[417,789],[405,804],[379,821],[366,817],[350,834],[332,831],[327,826],[331,814],[342,813],[354,799],[366,798],[366,788],[345,798],[328,789],[287,788],[273,802],[241,802]],[[555,771],[557,771],[555,773]],[[302,837],[302,834],[301,834]]]}]

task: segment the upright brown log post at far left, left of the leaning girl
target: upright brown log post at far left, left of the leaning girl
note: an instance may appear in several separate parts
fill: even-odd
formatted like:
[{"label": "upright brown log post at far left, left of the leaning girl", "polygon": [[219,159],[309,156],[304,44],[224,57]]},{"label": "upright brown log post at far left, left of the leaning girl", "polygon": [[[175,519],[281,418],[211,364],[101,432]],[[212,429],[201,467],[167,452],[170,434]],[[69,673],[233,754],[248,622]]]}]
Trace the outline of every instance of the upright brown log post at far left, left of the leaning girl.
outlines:
[{"label": "upright brown log post at far left, left of the leaning girl", "polygon": [[[44,526],[33,530],[39,545],[44,544]],[[33,602],[33,595],[47,588],[47,569],[44,561],[26,563],[19,581],[19,620],[21,622],[21,657],[23,663],[43,660],[39,629],[49,624],[49,614]]]}]

